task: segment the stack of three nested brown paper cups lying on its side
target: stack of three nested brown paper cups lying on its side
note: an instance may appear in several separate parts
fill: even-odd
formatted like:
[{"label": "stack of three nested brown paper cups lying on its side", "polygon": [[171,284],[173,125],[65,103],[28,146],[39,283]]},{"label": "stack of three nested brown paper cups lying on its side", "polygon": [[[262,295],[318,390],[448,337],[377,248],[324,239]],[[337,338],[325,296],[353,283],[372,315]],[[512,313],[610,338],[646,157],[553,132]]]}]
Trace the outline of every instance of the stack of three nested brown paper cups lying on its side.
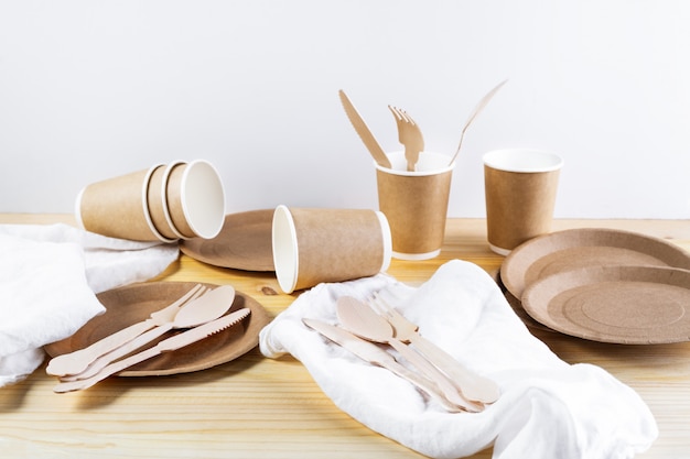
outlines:
[{"label": "stack of three nested brown paper cups lying on its side", "polygon": [[76,200],[87,231],[137,241],[215,238],[225,219],[225,193],[207,161],[175,161],[90,184]]}]

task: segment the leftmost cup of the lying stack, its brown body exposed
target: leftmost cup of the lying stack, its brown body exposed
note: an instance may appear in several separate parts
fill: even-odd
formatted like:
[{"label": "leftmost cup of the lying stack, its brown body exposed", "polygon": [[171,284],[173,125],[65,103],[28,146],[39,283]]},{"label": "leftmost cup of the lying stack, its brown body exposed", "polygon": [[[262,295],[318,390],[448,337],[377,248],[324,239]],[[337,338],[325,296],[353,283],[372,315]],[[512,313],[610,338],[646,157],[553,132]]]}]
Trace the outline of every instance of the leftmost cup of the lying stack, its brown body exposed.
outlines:
[{"label": "leftmost cup of the lying stack, its brown body exposed", "polygon": [[157,167],[84,187],[75,204],[75,217],[79,226],[111,238],[164,240],[153,227],[147,206],[149,181]]}]

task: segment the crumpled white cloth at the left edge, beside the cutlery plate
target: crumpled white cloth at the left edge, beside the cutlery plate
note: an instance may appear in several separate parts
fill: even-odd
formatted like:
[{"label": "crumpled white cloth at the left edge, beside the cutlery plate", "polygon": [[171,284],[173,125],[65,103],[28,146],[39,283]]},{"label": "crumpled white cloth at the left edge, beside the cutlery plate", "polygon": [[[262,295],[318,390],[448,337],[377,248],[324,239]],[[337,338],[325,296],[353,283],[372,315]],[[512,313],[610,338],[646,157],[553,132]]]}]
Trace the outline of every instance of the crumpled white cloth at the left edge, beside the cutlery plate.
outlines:
[{"label": "crumpled white cloth at the left edge, beside the cutlery plate", "polygon": [[101,314],[97,293],[154,277],[177,255],[177,244],[63,223],[0,225],[0,386],[32,373],[43,346]]}]

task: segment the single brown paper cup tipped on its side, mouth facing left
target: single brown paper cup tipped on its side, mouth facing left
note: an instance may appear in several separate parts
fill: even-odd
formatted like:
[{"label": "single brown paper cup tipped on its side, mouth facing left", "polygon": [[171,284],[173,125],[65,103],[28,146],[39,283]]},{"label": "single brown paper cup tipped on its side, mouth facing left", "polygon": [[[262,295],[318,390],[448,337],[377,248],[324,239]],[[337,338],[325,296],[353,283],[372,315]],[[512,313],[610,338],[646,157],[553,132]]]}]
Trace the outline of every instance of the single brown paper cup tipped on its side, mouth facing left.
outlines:
[{"label": "single brown paper cup tipped on its side, mouth facing left", "polygon": [[364,209],[278,206],[273,212],[276,276],[285,293],[386,271],[390,228],[384,214]]}]

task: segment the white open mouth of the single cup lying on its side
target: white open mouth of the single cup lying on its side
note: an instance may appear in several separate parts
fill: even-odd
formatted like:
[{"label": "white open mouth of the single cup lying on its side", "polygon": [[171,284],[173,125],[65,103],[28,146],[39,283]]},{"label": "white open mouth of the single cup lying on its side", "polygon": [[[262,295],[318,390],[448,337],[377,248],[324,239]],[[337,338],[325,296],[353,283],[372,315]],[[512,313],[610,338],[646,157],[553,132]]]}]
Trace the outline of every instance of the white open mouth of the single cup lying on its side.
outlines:
[{"label": "white open mouth of the single cup lying on its side", "polygon": [[287,206],[280,205],[273,212],[271,243],[278,284],[283,292],[292,293],[298,283],[300,258],[294,220]]}]

